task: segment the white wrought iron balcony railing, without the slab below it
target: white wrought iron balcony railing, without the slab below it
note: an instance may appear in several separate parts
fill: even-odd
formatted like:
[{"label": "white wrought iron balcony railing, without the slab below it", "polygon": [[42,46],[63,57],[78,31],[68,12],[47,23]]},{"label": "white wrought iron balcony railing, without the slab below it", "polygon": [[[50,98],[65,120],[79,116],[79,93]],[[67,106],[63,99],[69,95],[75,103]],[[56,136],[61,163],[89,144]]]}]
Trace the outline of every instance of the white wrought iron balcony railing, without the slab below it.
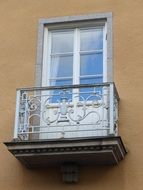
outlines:
[{"label": "white wrought iron balcony railing, without the slab below it", "polygon": [[118,102],[114,83],[17,89],[14,139],[117,135]]}]

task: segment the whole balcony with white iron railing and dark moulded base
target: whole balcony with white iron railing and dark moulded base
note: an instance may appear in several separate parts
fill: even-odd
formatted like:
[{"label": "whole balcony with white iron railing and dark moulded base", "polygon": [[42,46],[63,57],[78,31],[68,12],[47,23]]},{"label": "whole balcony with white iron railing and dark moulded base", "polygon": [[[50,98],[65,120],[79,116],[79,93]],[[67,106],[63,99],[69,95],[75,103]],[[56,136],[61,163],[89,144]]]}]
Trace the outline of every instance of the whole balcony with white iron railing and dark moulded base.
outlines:
[{"label": "whole balcony with white iron railing and dark moulded base", "polygon": [[14,137],[5,144],[29,168],[118,164],[126,154],[118,103],[114,83],[18,89]]}]

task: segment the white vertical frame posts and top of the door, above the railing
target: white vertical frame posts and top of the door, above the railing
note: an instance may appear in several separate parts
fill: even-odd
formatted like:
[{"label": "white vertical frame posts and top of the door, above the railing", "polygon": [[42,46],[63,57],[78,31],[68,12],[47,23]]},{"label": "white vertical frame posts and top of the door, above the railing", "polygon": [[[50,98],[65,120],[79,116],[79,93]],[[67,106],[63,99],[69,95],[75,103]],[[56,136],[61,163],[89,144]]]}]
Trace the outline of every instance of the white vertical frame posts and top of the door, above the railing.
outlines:
[{"label": "white vertical frame posts and top of the door, above the railing", "polygon": [[[93,23],[92,23],[93,25]],[[103,29],[103,82],[107,82],[107,23],[103,23],[101,26],[95,24],[95,26],[88,26],[72,29],[64,29],[63,31],[73,31],[74,32],[74,42],[73,42],[73,84],[80,84],[80,31],[88,29]],[[42,71],[42,86],[50,86],[50,66],[51,66],[51,33],[62,31],[59,30],[49,30],[47,26],[44,28],[44,49],[43,49],[43,71]]]}]

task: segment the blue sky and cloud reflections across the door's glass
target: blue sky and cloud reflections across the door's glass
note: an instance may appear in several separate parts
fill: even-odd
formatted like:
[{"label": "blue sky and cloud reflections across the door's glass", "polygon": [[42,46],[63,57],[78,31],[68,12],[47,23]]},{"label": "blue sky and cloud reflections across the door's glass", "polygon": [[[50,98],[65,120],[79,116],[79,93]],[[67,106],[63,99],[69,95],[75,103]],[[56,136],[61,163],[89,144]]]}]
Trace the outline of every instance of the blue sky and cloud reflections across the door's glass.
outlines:
[{"label": "blue sky and cloud reflections across the door's glass", "polygon": [[[76,77],[80,84],[94,84],[103,82],[103,28],[79,29],[79,44],[74,45],[74,30],[51,31],[50,76],[51,86],[64,86],[73,84],[73,57],[76,55],[80,71]],[[78,45],[80,46],[78,49]],[[77,47],[76,47],[77,46]],[[76,49],[76,54],[75,50]],[[80,58],[79,58],[80,57]],[[76,69],[76,68],[75,68]],[[79,90],[80,95],[87,98],[92,88]],[[98,93],[102,93],[99,87]],[[71,90],[72,92],[72,90]],[[58,90],[52,92],[52,102],[59,98]],[[72,95],[68,95],[71,99]]]}]

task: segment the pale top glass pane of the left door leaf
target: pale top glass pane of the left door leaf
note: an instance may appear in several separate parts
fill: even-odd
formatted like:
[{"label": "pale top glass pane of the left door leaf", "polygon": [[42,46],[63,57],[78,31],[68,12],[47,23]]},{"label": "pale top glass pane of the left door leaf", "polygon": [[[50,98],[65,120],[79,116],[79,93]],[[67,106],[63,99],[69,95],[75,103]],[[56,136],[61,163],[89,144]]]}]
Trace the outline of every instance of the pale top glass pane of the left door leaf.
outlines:
[{"label": "pale top glass pane of the left door leaf", "polygon": [[73,31],[52,33],[52,53],[73,52]]}]

